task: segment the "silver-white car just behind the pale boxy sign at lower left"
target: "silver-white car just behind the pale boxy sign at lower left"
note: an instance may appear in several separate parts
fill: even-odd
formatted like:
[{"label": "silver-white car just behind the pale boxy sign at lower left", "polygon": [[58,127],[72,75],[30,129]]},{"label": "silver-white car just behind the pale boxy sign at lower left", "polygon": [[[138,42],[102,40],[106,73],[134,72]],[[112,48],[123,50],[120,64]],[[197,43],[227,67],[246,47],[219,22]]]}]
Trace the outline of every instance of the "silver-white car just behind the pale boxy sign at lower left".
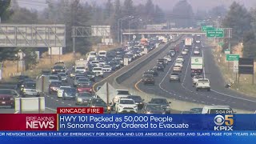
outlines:
[{"label": "silver-white car just behind the pale boxy sign at lower left", "polygon": [[40,97],[40,93],[36,89],[36,83],[35,82],[26,82],[22,86],[21,93],[22,93],[23,97],[26,97],[26,96]]}]

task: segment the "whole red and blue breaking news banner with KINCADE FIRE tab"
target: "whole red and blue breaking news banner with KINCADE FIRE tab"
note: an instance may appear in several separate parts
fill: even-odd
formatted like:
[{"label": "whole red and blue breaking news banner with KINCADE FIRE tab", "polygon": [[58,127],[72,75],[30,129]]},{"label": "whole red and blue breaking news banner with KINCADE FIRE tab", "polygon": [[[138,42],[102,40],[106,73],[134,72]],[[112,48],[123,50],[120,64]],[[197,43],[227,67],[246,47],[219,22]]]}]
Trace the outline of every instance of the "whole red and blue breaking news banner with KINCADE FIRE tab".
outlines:
[{"label": "whole red and blue breaking news banner with KINCADE FIRE tab", "polygon": [[[1,114],[0,130],[170,132],[256,130],[256,114],[102,114],[102,108],[58,108],[58,114]],[[219,112],[221,113],[221,112]]]}]

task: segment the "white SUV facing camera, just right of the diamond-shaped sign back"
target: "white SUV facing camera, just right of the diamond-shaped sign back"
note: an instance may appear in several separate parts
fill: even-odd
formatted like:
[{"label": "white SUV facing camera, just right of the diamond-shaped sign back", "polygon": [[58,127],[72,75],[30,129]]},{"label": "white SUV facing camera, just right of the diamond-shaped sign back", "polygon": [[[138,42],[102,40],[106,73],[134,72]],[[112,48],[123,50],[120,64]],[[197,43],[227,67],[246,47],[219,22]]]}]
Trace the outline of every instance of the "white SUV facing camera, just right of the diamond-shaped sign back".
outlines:
[{"label": "white SUV facing camera, just right of the diamond-shaped sign back", "polygon": [[119,98],[115,104],[115,112],[119,113],[138,113],[138,106],[131,98]]}]

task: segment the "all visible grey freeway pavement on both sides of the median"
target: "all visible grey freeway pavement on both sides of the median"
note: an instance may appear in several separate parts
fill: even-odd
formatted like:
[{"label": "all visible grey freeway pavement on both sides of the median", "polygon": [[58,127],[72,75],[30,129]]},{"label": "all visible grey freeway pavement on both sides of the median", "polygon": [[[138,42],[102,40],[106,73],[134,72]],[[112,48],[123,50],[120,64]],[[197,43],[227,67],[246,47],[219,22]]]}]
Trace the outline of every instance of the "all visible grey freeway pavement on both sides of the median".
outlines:
[{"label": "all visible grey freeway pavement on both sides of the median", "polygon": [[[202,39],[203,40],[203,39]],[[155,77],[154,85],[144,85],[142,82],[142,74],[146,70],[150,70],[156,66],[158,58],[163,58],[167,55],[170,49],[173,49],[175,45],[179,47],[179,53],[175,54],[172,61],[168,63],[163,72],[159,72],[158,77]],[[170,82],[170,74],[173,71],[174,63],[178,55],[182,55],[181,51],[184,49],[184,44],[181,40],[177,42],[171,42],[171,45],[163,50],[160,54],[150,58],[150,61],[146,62],[145,65],[140,67],[135,71],[129,78],[125,78],[122,82],[118,83],[118,86],[126,89],[134,89],[147,94],[153,94],[155,96],[162,96],[164,98],[173,98],[185,102],[193,102],[202,105],[226,105],[231,106],[235,109],[240,110],[256,110],[256,98],[246,96],[244,94],[238,94],[234,90],[225,88],[225,81],[222,78],[222,74],[218,69],[218,66],[214,62],[214,56],[212,50],[214,47],[207,46],[204,42],[194,43],[188,54],[183,55],[185,62],[183,63],[181,72],[181,82]],[[195,46],[198,46],[200,50],[200,55],[194,55],[193,51]],[[160,46],[161,49],[163,46]],[[96,85],[102,85],[104,82],[110,82],[113,86],[117,86],[115,82],[123,73],[129,71],[133,66],[138,65],[138,63],[146,60],[147,57],[152,56],[155,51],[152,50],[150,54],[146,54],[141,58],[138,58],[132,62],[129,66],[123,67],[121,70],[117,70],[114,73],[104,74],[105,78],[97,78]],[[211,91],[196,91],[193,84],[192,78],[190,76],[190,58],[203,57],[204,59],[204,69],[202,75],[204,78],[209,78]],[[73,79],[68,78],[66,84],[72,85]],[[119,87],[116,87],[119,88]],[[73,107],[75,105],[74,100],[63,100],[62,98],[57,98],[56,94],[46,94],[46,113],[55,113],[57,107]],[[0,113],[17,113],[14,109],[0,109]]]}]

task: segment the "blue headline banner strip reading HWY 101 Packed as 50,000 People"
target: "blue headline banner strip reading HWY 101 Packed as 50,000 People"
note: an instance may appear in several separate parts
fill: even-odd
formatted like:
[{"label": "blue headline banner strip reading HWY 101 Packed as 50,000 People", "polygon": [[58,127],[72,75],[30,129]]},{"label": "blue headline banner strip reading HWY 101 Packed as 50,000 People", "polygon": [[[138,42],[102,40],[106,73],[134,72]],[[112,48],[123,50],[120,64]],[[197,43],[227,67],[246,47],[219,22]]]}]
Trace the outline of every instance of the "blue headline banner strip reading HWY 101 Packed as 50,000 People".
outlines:
[{"label": "blue headline banner strip reading HWY 101 Packed as 50,000 People", "polygon": [[256,114],[59,114],[59,131],[256,130]]}]

